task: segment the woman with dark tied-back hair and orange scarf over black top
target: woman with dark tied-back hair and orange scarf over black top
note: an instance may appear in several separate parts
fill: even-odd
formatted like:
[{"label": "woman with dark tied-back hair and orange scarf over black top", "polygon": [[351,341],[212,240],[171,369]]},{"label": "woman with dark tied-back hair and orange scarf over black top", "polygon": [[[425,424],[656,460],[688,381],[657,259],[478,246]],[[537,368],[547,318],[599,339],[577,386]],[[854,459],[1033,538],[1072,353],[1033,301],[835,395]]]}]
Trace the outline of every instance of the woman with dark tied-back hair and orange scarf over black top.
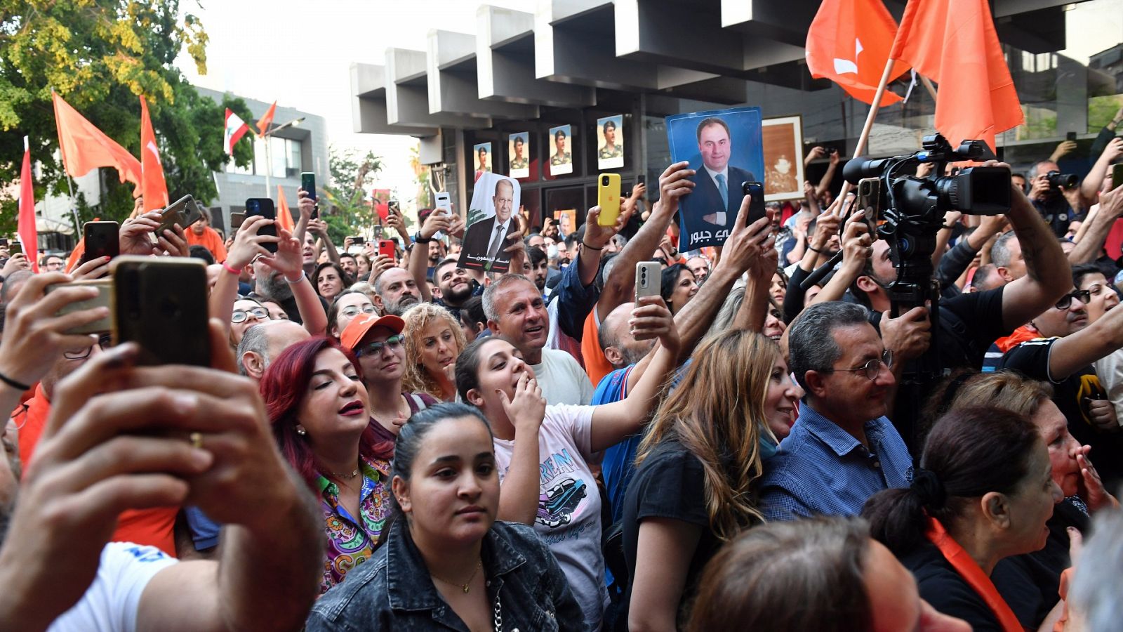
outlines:
[{"label": "woman with dark tied-back hair and orange scarf over black top", "polygon": [[932,426],[912,485],[878,491],[861,515],[935,610],[974,630],[1022,632],[992,574],[1001,560],[1046,545],[1060,499],[1049,451],[1029,419],[962,408]]}]

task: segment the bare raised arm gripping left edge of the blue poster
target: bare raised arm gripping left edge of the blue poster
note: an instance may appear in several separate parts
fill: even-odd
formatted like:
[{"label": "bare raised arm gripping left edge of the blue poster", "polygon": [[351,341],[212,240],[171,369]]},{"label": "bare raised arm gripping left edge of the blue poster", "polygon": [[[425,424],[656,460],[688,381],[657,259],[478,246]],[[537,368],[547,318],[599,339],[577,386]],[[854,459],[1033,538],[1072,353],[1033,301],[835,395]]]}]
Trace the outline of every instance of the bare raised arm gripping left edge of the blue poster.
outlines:
[{"label": "bare raised arm gripping left edge of the blue poster", "polygon": [[[603,320],[621,304],[631,300],[632,294],[636,291],[636,264],[651,258],[651,253],[658,247],[663,234],[667,232],[670,218],[678,210],[679,199],[694,187],[694,182],[687,180],[694,174],[694,171],[688,166],[687,162],[675,163],[659,177],[659,200],[655,204],[650,219],[617,255],[612,272],[604,281],[601,298],[596,300],[599,320]],[[632,195],[634,196],[636,192],[632,191]]]}]

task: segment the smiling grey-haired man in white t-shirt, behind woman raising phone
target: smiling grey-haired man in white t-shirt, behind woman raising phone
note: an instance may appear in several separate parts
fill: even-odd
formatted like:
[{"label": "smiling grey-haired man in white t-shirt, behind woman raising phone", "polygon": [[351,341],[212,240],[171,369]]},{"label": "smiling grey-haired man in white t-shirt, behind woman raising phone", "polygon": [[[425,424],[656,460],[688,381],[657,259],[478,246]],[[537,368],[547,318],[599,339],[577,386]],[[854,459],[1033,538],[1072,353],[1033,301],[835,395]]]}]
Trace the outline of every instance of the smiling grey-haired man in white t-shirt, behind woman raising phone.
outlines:
[{"label": "smiling grey-haired man in white t-shirt, behind woman raising phone", "polygon": [[585,405],[593,399],[593,385],[573,355],[545,349],[550,317],[533,281],[503,274],[484,291],[484,314],[492,333],[511,341],[533,369],[547,404]]}]

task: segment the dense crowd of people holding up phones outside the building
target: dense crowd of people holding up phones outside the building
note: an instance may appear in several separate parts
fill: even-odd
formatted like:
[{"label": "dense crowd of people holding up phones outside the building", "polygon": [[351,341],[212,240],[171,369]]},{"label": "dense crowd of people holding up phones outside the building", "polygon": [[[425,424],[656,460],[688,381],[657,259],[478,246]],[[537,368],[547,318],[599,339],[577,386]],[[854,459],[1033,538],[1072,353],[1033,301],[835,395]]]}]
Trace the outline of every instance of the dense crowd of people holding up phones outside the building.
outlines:
[{"label": "dense crowd of people holding up phones outside the building", "polygon": [[48,289],[110,260],[0,252],[0,626],[1115,630],[1101,145],[1075,187],[1062,145],[1003,215],[947,213],[938,309],[897,309],[822,147],[819,186],[751,223],[746,197],[719,249],[678,252],[676,163],[613,225],[519,213],[503,273],[458,263],[456,215],[392,208],[389,256],[334,245],[305,191],[275,236],[138,207],[122,254],[208,263],[210,368],[69,333],[109,312]]}]

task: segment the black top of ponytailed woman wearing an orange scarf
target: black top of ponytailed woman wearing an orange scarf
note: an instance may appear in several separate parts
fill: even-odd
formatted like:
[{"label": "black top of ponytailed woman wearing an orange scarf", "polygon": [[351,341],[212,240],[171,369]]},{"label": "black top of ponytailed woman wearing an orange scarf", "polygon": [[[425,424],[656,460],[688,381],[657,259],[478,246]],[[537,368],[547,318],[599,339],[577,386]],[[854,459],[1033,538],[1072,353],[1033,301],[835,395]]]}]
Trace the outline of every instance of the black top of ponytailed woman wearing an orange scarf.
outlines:
[{"label": "black top of ponytailed woman wearing an orange scarf", "polygon": [[1003,632],[998,617],[983,597],[971,588],[944,559],[934,544],[925,541],[901,563],[916,578],[920,597],[937,611],[962,619],[975,632]]}]

